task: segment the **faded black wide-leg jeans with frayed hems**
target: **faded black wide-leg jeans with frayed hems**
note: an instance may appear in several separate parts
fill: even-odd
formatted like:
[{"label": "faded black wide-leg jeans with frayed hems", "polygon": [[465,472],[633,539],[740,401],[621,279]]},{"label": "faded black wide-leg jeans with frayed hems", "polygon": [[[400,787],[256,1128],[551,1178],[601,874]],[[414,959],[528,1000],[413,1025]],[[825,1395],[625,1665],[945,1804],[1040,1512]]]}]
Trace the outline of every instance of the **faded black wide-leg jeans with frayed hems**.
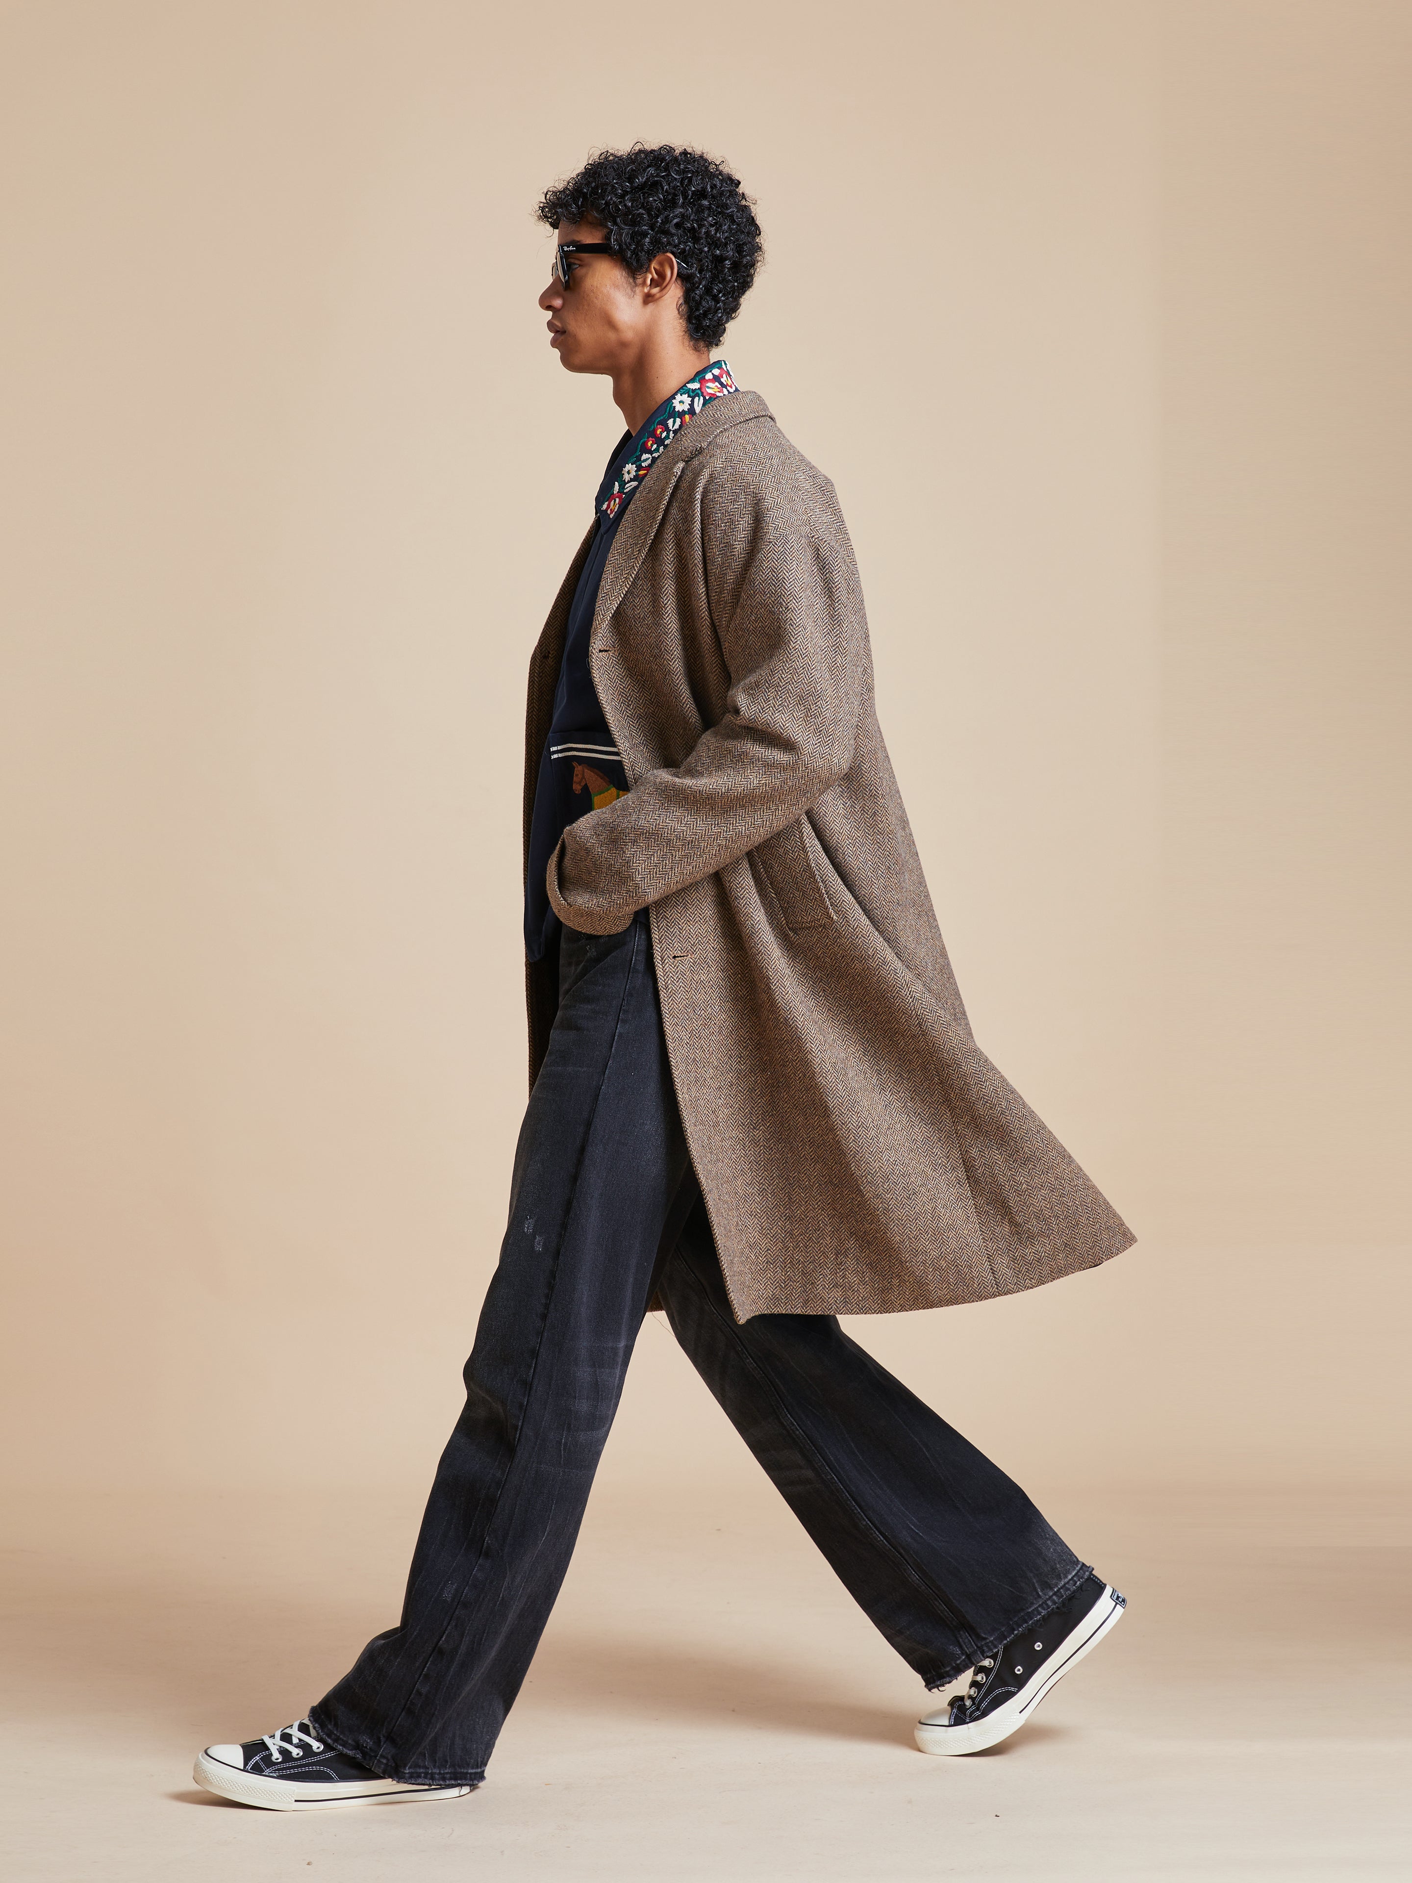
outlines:
[{"label": "faded black wide-leg jeans with frayed hems", "polygon": [[832,1316],[734,1320],[676,1111],[646,911],[616,936],[565,930],[559,985],[401,1623],[313,1708],[322,1738],[384,1778],[484,1778],[653,1288],[810,1537],[928,1687],[1088,1574],[1019,1486]]}]

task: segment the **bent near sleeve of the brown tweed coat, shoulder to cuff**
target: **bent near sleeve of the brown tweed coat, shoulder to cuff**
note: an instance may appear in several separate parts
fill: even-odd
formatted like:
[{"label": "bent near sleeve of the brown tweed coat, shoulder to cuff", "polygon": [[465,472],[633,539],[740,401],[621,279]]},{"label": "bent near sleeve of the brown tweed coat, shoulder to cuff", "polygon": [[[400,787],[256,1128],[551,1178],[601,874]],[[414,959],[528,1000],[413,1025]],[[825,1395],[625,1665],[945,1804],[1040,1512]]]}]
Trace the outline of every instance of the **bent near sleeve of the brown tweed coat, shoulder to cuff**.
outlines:
[{"label": "bent near sleeve of the brown tweed coat, shoulder to cuff", "polygon": [[813,467],[757,491],[712,478],[702,531],[725,717],[682,764],[565,830],[550,904],[587,934],[618,934],[644,904],[744,857],[853,764],[868,629],[834,486]]}]

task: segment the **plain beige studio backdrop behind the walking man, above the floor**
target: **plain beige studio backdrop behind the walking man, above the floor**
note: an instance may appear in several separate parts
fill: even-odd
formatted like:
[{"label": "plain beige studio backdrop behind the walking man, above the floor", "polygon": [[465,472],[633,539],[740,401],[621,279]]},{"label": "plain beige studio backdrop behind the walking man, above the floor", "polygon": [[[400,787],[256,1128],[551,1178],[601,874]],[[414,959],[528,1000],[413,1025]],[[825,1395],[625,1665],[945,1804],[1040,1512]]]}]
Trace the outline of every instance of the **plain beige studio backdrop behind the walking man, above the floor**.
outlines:
[{"label": "plain beige studio backdrop behind the walking man, above the floor", "polygon": [[[1412,11],[586,17],[0,9],[6,1471],[429,1478],[619,433],[531,211],[640,136],[759,200],[721,350],[838,486],[977,1036],[1141,1237],[855,1331],[1039,1486],[1403,1473]],[[655,1322],[612,1444],[738,1444]]]}]

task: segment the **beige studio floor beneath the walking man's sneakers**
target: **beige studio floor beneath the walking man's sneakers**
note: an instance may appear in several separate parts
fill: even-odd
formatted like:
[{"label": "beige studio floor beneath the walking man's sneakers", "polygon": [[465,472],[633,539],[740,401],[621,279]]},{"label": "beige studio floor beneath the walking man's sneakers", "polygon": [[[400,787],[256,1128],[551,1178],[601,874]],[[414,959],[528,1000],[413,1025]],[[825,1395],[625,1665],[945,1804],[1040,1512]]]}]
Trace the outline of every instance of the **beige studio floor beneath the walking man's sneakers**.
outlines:
[{"label": "beige studio floor beneath the walking man's sneakers", "polygon": [[[629,1429],[646,1392],[638,1373]],[[198,1793],[203,1742],[301,1712],[393,1619],[420,1497],[24,1505],[26,1544],[8,1552],[8,1877],[1412,1868],[1404,1499],[1045,1486],[1130,1612],[1030,1730],[941,1761],[911,1747],[913,1676],[744,1452],[674,1482],[623,1444],[482,1791],[320,1817]]]}]

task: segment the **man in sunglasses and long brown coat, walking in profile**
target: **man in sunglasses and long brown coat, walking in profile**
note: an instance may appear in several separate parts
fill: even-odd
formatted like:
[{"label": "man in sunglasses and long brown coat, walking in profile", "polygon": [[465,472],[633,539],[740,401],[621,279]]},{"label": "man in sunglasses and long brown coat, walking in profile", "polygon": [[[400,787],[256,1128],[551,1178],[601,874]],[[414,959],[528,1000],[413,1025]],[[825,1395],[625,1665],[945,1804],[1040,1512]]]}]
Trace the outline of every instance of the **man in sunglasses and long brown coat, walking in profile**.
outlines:
[{"label": "man in sunglasses and long brown coat, walking in profile", "polygon": [[463,1796],[569,1567],[650,1305],[970,1753],[1122,1597],[838,1314],[981,1301],[1131,1231],[971,1038],[874,712],[834,488],[714,348],[761,232],[725,166],[597,156],[540,296],[625,420],[529,670],[531,1098],[401,1621],[196,1778]]}]

